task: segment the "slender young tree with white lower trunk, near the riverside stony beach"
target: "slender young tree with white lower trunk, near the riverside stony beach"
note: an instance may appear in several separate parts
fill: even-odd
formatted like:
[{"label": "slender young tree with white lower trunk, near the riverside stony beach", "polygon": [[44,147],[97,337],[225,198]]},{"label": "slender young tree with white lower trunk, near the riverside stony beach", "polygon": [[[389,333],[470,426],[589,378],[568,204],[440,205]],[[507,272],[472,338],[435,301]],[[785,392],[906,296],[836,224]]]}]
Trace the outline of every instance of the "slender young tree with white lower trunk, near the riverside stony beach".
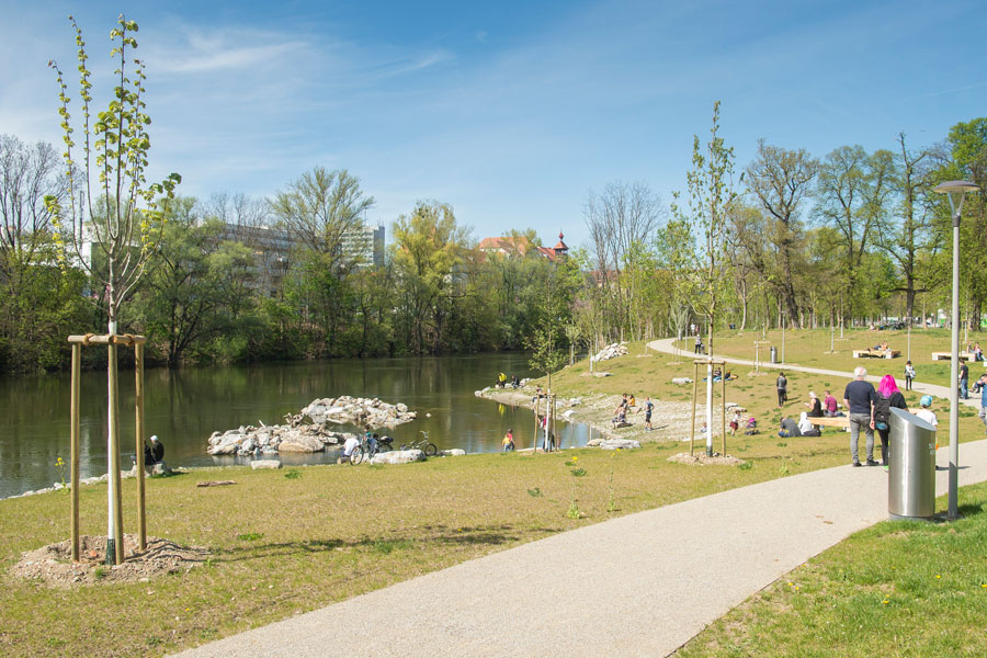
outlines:
[{"label": "slender young tree with white lower trunk, near the riverside stony beach", "polygon": [[[674,217],[694,226],[694,234],[700,237],[694,251],[695,286],[692,306],[706,317],[706,456],[713,455],[713,331],[716,329],[717,302],[724,296],[727,286],[724,228],[730,207],[737,200],[733,184],[734,149],[726,146],[719,135],[719,101],[713,103],[713,127],[710,133],[705,149],[701,146],[699,135],[693,136],[693,168],[685,174],[689,191],[687,207],[679,205],[678,192],[673,194],[676,201],[672,204]],[[742,180],[744,177],[740,178]]]}]

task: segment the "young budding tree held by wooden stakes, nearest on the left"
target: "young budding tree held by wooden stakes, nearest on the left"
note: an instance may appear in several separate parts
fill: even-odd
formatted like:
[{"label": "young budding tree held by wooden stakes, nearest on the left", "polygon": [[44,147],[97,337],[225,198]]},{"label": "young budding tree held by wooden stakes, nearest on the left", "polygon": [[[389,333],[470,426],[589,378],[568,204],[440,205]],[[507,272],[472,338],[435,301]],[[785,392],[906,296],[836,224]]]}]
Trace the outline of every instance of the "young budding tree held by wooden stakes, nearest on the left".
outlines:
[{"label": "young budding tree held by wooden stakes, nearest on the left", "polygon": [[[134,35],[137,23],[123,14],[110,32],[111,58],[116,64],[113,95],[106,110],[92,116],[91,71],[87,60],[82,31],[72,16],[79,60],[79,99],[81,122],[73,125],[69,113],[68,84],[58,65],[48,66],[57,73],[58,113],[65,141],[65,175],[69,194],[66,201],[48,197],[46,203],[56,227],[64,269],[80,266],[92,281],[93,302],[105,309],[107,334],[70,337],[72,343],[72,558],[79,558],[78,535],[78,400],[79,361],[82,344],[106,344],[109,350],[109,431],[107,444],[107,531],[106,563],[123,561],[123,527],[120,476],[120,415],[116,376],[118,344],[134,345],[137,370],[137,463],[139,488],[138,523],[140,549],[144,549],[144,450],[143,450],[143,337],[118,336],[120,309],[140,281],[148,260],[157,249],[164,220],[164,208],[173,198],[181,177],[171,173],[161,182],[147,183],[150,116],[145,112],[144,64],[133,56],[137,48]],[[75,133],[81,135],[81,154],[77,155]]]}]

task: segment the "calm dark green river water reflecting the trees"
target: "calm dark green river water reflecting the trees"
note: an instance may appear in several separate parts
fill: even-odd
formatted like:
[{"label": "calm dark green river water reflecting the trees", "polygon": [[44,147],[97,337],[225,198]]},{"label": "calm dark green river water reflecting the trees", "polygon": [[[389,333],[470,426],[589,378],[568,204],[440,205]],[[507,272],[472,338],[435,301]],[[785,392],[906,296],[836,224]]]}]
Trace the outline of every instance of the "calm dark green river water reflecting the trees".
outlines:
[{"label": "calm dark green river water reflecting the trees", "polygon": [[[147,434],[164,443],[170,466],[247,463],[250,457],[213,457],[209,434],[241,424],[277,424],[315,398],[352,395],[405,402],[418,420],[388,431],[395,445],[429,432],[440,450],[500,450],[500,439],[514,429],[518,447],[530,447],[534,418],[483,400],[474,392],[499,372],[529,376],[523,354],[483,354],[422,359],[340,360],[318,363],[204,367],[145,373]],[[121,371],[121,453],[128,467],[134,454],[134,373]],[[81,477],[106,472],[106,374],[82,374]],[[49,487],[59,481],[55,463],[69,461],[68,374],[0,379],[0,498]],[[431,413],[431,418],[426,418]],[[352,430],[340,426],[342,430]],[[563,424],[561,445],[582,445],[590,429]],[[336,453],[284,455],[285,464],[336,461]],[[66,478],[68,465],[66,464]]]}]

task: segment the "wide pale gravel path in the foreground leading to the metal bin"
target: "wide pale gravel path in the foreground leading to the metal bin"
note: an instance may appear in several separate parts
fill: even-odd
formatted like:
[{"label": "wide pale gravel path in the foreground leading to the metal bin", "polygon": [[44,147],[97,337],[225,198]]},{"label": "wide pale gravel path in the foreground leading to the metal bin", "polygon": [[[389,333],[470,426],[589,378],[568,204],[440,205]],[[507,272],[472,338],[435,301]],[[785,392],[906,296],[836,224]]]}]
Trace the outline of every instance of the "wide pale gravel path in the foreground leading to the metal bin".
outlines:
[{"label": "wide pale gravel path in the foreground leading to the metal bin", "polygon": [[[961,456],[961,486],[987,479],[987,441]],[[180,656],[667,656],[886,518],[887,473],[839,466],[558,534]]]}]

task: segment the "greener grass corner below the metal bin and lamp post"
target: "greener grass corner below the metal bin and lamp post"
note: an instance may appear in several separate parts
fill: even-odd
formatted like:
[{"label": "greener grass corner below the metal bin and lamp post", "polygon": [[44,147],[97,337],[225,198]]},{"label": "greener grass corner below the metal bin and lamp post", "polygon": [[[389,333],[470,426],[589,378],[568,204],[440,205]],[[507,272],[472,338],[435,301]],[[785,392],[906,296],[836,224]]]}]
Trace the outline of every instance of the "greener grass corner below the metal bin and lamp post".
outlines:
[{"label": "greener grass corner below the metal bin and lamp post", "polygon": [[961,488],[958,502],[955,522],[886,521],[853,534],[674,655],[987,655],[987,484]]}]

